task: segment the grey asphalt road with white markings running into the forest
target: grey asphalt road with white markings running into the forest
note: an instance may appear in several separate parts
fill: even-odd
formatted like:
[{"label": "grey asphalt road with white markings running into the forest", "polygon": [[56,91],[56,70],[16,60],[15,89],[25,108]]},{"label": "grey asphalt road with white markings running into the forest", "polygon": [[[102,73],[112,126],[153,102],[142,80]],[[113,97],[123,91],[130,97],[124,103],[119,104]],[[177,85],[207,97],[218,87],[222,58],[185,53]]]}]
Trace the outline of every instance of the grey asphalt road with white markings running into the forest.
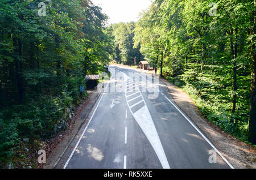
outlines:
[{"label": "grey asphalt road with white markings running into the forest", "polygon": [[[172,101],[163,82],[151,83],[144,72],[136,69],[110,67],[115,75],[107,90],[90,112],[88,125],[81,128],[56,168],[233,168]],[[145,82],[158,92],[143,91]],[[123,87],[125,92],[108,91],[115,86]],[[209,161],[214,155],[211,152],[216,152],[216,163]]]}]

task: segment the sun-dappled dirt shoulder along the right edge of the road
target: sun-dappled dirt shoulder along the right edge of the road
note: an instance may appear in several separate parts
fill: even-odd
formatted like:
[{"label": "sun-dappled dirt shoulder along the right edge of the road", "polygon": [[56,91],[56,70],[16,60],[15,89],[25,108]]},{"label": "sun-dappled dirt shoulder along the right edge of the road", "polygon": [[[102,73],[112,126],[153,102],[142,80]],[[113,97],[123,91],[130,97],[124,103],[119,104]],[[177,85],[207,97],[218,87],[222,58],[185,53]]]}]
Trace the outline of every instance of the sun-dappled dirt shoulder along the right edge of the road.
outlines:
[{"label": "sun-dappled dirt shoulder along the right edge of the road", "polygon": [[[123,67],[129,67],[121,65]],[[136,69],[137,71],[146,72],[154,75],[154,71]],[[171,84],[165,78],[159,78],[168,88],[168,91],[175,104],[183,110],[197,127],[207,136],[218,151],[232,164],[236,169],[255,169],[256,168],[256,148],[253,145],[242,142],[241,140],[230,135],[228,132],[221,130],[220,127],[214,125],[201,113],[195,102],[182,89]]]}]

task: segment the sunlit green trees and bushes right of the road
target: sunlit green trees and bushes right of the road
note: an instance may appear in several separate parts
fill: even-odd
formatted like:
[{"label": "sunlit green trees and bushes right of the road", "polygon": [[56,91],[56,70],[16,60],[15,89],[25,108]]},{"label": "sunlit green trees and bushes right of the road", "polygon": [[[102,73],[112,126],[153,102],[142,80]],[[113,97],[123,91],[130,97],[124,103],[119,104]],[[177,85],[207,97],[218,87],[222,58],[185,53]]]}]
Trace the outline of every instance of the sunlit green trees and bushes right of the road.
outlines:
[{"label": "sunlit green trees and bushes right of the road", "polygon": [[144,57],[155,67],[163,58],[163,76],[189,93],[210,121],[243,141],[254,62],[253,12],[255,1],[156,0],[134,29],[134,45]]}]

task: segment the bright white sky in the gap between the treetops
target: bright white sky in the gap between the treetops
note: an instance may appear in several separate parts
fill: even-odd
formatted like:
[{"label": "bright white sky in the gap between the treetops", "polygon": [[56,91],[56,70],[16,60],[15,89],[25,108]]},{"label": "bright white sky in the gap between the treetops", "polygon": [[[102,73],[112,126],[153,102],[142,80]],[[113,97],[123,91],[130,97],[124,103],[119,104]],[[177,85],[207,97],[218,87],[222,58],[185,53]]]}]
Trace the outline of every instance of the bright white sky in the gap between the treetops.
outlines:
[{"label": "bright white sky in the gap between the treetops", "polygon": [[108,24],[119,22],[137,22],[139,13],[151,5],[150,0],[91,0],[102,7],[102,12],[109,16]]}]

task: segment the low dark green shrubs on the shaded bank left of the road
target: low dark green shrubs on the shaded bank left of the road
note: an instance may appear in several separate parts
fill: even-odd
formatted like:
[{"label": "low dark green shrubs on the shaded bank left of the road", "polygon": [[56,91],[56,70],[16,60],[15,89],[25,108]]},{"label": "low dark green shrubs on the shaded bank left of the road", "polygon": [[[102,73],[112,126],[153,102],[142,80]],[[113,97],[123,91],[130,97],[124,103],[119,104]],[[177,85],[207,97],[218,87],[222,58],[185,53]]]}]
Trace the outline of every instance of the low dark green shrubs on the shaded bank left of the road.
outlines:
[{"label": "low dark green shrubs on the shaded bank left of the road", "polygon": [[[59,96],[41,96],[23,105],[2,108],[0,112],[0,157],[13,155],[19,139],[44,140],[55,134],[61,119],[69,119],[65,112],[80,100],[79,80],[68,79]],[[63,121],[63,120],[62,120]],[[63,122],[61,122],[63,123]]]}]

